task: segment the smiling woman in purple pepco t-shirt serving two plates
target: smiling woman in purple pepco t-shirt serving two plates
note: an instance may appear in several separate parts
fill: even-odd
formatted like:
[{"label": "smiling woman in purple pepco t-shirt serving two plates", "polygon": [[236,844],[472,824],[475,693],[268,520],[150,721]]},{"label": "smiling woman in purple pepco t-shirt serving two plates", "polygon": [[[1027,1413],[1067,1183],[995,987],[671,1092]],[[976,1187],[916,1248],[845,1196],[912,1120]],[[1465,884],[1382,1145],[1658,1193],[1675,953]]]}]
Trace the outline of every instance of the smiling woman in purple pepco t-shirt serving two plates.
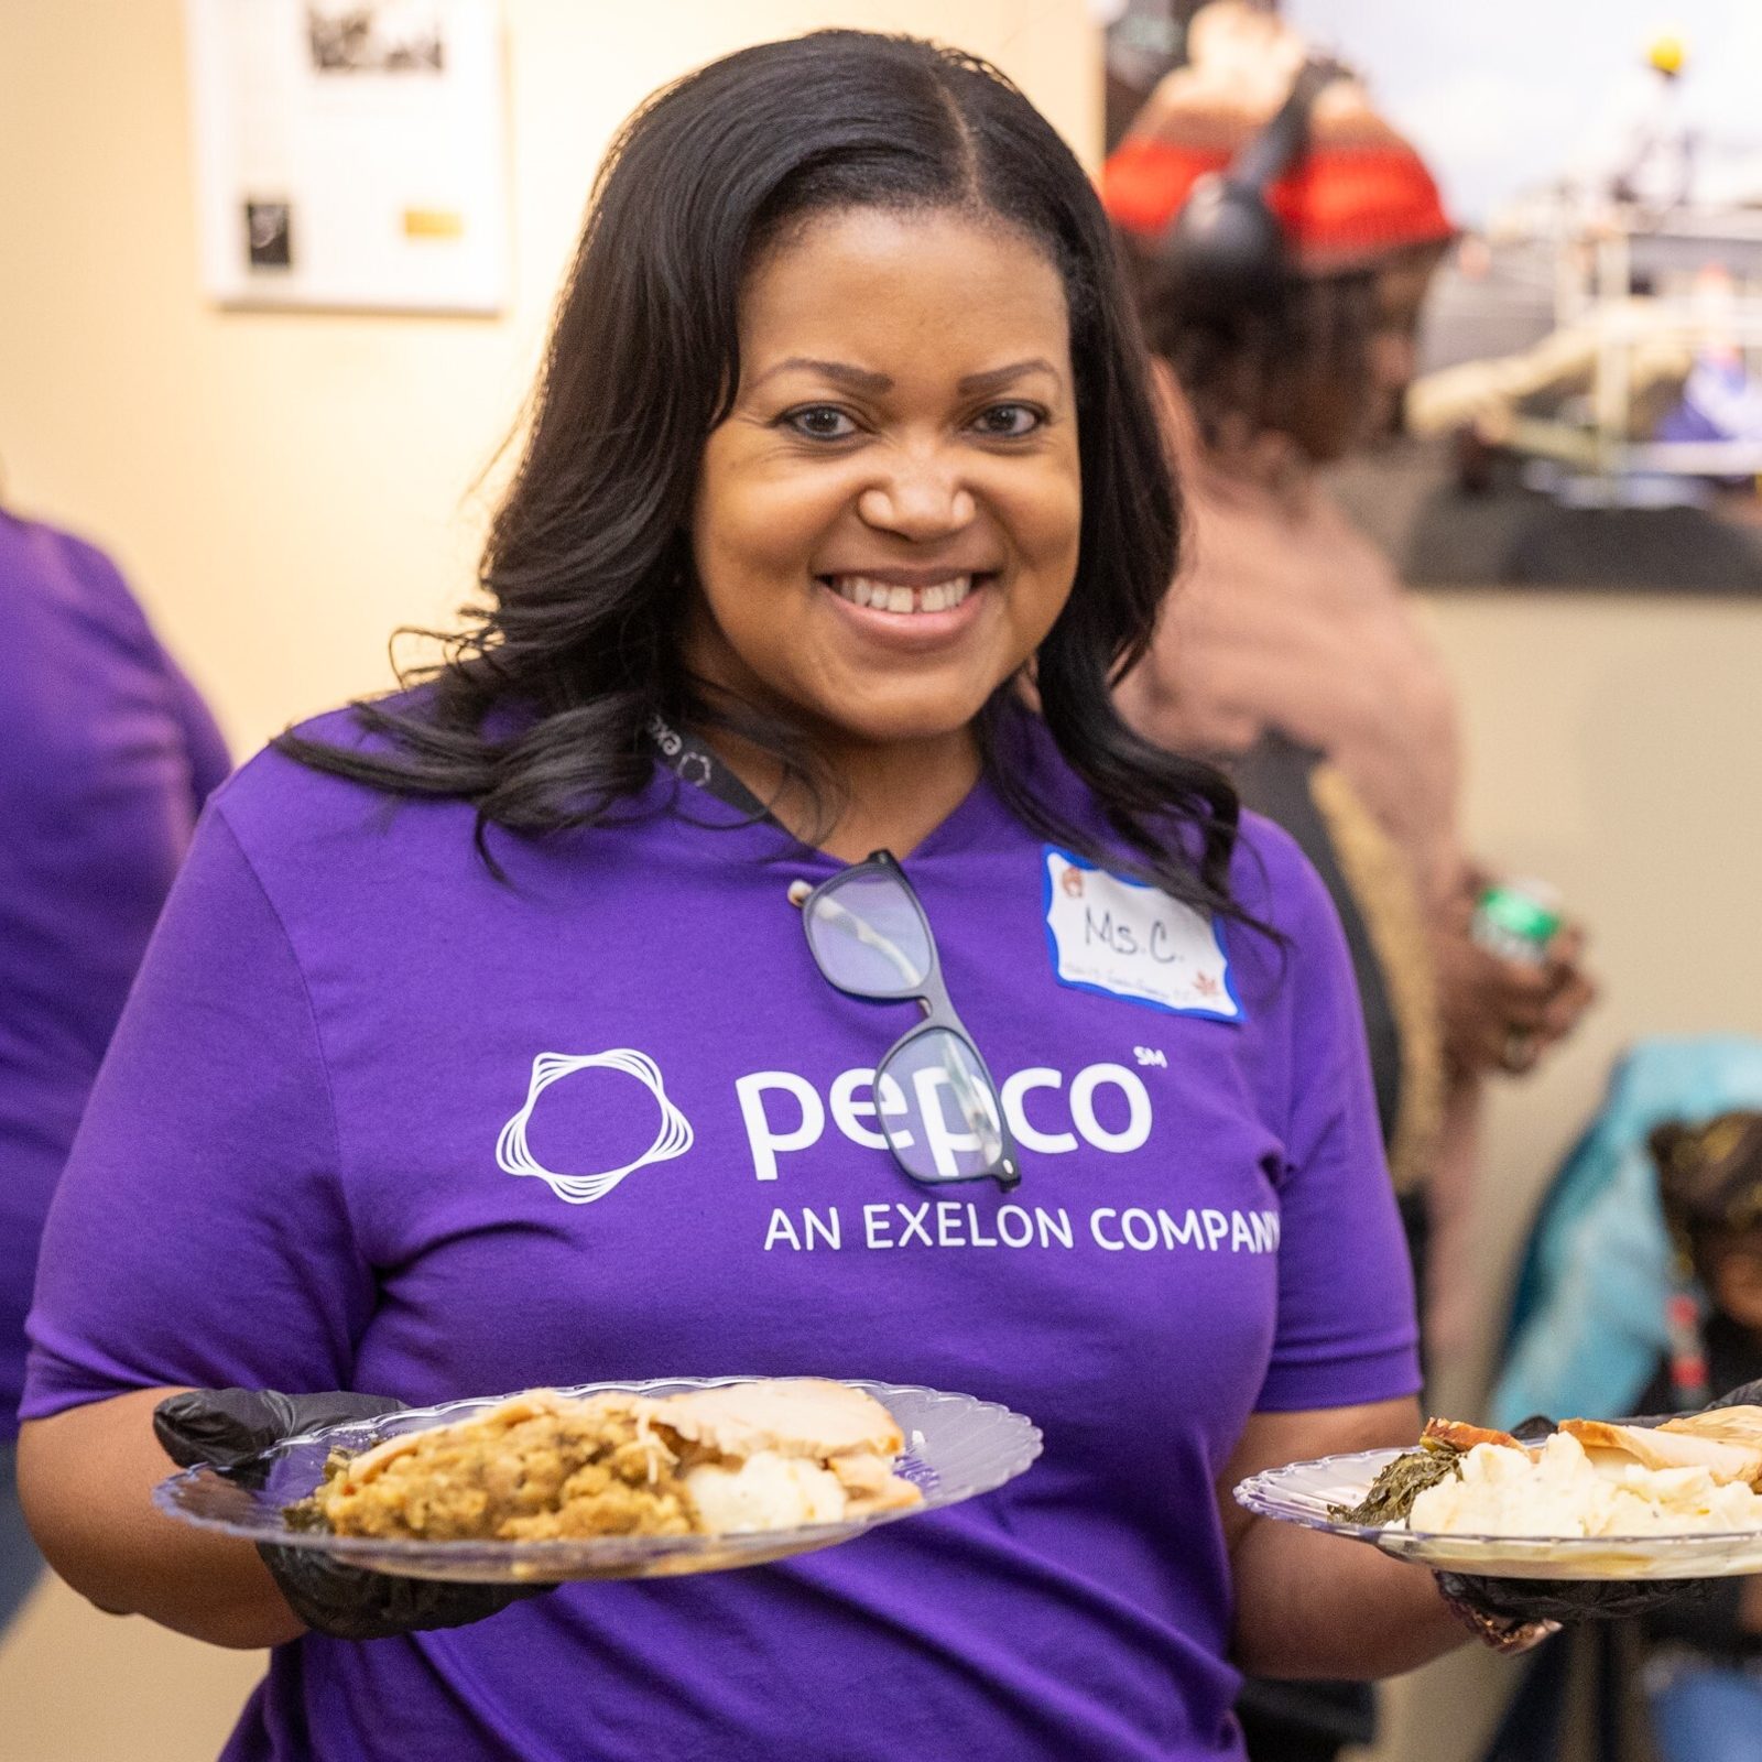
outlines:
[{"label": "smiling woman in purple pepco t-shirt serving two plates", "polygon": [[[231,1758],[1228,1762],[1237,1662],[1452,1644],[1424,1572],[1228,1499],[1411,1441],[1415,1327],[1327,897],[1112,707],[1175,553],[1107,222],[992,69],[837,32],[631,122],[481,613],[220,791],[44,1242],[32,1521],[278,1646]],[[543,1595],[150,1505],[167,1450],[800,1374],[1045,1455]]]}]

